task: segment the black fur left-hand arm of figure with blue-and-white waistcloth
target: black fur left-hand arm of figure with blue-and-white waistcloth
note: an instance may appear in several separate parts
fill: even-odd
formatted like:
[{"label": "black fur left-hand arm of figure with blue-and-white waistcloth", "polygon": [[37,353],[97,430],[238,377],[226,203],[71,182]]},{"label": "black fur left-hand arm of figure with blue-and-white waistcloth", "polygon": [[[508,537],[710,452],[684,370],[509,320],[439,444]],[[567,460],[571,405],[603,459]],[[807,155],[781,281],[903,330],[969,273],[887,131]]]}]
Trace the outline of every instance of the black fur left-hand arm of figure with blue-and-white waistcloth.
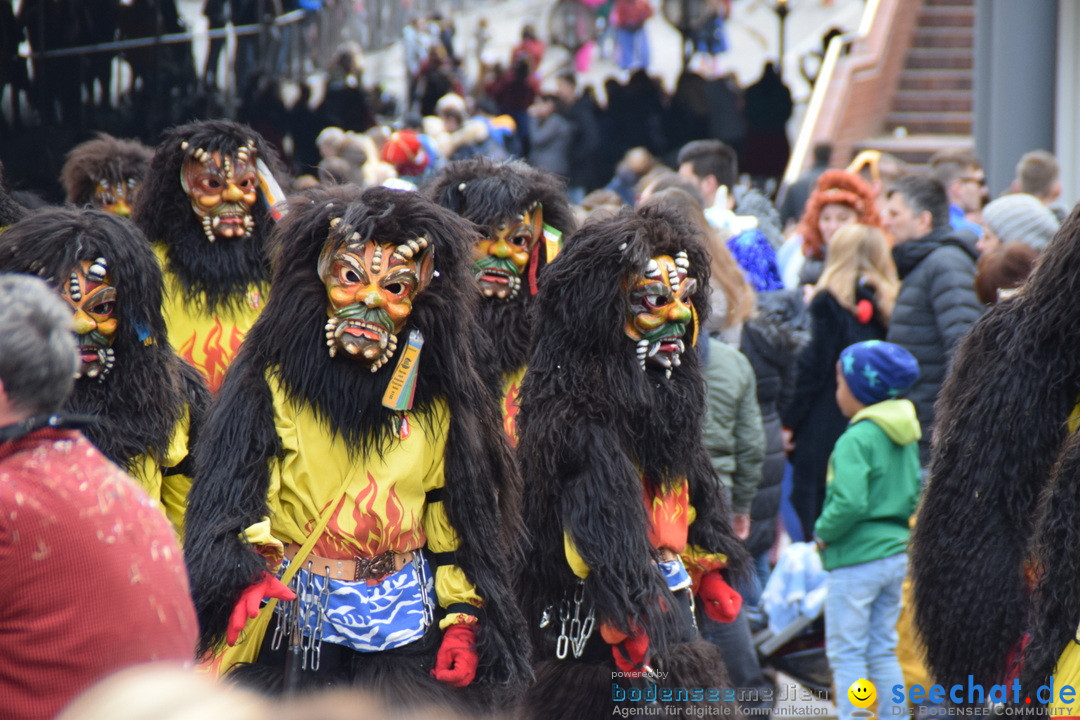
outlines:
[{"label": "black fur left-hand arm of figure with blue-and-white waistcloth", "polygon": [[267,515],[269,461],[281,441],[262,370],[241,351],[195,447],[185,558],[199,616],[199,653],[225,637],[229,614],[267,567],[239,533]]}]

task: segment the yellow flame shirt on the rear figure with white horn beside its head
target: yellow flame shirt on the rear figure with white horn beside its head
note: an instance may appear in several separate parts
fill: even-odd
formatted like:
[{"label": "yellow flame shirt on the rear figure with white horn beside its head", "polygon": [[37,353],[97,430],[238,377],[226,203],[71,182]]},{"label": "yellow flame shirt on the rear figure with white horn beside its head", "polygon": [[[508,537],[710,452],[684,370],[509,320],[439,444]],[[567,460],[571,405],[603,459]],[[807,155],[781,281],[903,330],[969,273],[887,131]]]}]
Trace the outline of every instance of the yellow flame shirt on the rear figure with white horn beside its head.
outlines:
[{"label": "yellow flame shirt on the rear figure with white horn beside its head", "polygon": [[165,246],[154,243],[153,253],[165,279],[161,312],[165,316],[168,342],[176,354],[202,372],[211,392],[217,393],[226,369],[255,325],[266,298],[257,285],[251,285],[240,305],[211,314],[185,299],[179,279],[166,269]]}]

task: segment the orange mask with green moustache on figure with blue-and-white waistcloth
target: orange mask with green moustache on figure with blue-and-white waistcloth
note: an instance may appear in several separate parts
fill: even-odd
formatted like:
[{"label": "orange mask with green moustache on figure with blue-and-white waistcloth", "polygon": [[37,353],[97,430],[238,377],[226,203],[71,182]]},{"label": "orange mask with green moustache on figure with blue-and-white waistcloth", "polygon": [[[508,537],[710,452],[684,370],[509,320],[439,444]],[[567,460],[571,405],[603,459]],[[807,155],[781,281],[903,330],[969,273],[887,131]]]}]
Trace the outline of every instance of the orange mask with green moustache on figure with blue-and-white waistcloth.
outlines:
[{"label": "orange mask with green moustache on figure with blue-and-white waistcloth", "polygon": [[319,257],[326,285],[326,345],[377,371],[397,350],[413,301],[431,282],[434,248],[427,237],[383,242],[330,223]]}]

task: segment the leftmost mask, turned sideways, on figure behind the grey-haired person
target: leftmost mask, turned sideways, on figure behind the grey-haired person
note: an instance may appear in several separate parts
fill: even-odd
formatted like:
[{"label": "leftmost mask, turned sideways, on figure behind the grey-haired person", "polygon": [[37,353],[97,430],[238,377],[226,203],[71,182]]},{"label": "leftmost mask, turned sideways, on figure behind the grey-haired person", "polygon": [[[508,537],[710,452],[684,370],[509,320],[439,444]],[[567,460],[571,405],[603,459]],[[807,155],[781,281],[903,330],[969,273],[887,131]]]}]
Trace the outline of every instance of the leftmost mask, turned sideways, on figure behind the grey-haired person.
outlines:
[{"label": "leftmost mask, turned sideways, on figure behind the grey-haired person", "polygon": [[82,260],[60,285],[60,295],[75,313],[75,335],[79,349],[78,377],[105,379],[116,364],[112,342],[120,318],[117,288],[109,277],[105,258]]}]

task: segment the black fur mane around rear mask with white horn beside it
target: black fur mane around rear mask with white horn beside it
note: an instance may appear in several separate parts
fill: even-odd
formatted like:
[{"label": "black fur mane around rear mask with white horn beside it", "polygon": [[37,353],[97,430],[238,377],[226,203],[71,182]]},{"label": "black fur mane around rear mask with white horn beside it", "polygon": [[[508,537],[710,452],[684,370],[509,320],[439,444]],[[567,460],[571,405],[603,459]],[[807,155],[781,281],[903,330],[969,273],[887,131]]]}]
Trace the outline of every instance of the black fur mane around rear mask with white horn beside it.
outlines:
[{"label": "black fur mane around rear mask with white horn beside it", "polygon": [[[273,222],[259,190],[252,207],[255,229],[240,240],[210,242],[180,186],[180,168],[188,153],[198,148],[235,153],[248,140],[255,141],[257,158],[280,181],[284,177],[281,161],[261,135],[229,120],[204,120],[162,134],[135,203],[134,221],[151,243],[165,244],[165,269],[179,279],[185,298],[210,312],[240,307],[251,285],[266,290],[269,262],[264,245]],[[185,141],[188,150],[181,148]]]}]

